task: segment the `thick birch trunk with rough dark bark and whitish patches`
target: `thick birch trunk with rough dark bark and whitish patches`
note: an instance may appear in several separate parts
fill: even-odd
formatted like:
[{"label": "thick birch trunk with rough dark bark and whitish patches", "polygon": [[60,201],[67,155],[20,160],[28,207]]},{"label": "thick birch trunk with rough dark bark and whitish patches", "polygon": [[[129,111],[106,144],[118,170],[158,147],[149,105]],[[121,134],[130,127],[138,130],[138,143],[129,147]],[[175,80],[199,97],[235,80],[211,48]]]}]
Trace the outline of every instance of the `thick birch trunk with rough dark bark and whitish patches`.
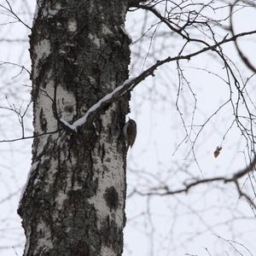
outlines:
[{"label": "thick birch trunk with rough dark bark and whitish patches", "polygon": [[[129,96],[68,129],[128,78],[128,0],[39,0],[32,27],[32,168],[18,213],[24,255],[121,255]],[[44,135],[42,135],[44,134]]]}]

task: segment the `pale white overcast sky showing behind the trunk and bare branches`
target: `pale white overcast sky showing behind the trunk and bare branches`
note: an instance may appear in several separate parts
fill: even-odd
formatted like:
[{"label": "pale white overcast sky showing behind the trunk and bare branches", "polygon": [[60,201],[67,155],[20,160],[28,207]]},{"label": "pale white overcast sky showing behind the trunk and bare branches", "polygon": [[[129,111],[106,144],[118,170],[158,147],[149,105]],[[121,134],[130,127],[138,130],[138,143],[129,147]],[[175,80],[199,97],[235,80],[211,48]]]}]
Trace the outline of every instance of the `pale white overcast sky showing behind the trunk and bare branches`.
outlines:
[{"label": "pale white overcast sky showing behind the trunk and bare branches", "polygon": [[[19,9],[19,3],[16,4]],[[255,23],[252,22],[255,17],[254,12],[247,9],[246,13],[242,11],[241,15],[237,15],[236,32],[255,29]],[[143,24],[143,18],[142,13],[140,15],[131,14],[128,17],[127,31],[133,39],[138,38],[137,32],[141,29],[142,25],[140,24]],[[137,19],[137,22],[134,19]],[[26,17],[24,20],[32,23]],[[3,21],[1,20],[1,22]],[[0,35],[17,38],[20,34],[20,38],[24,38],[23,26],[15,25],[13,27],[12,30],[2,30]],[[156,59],[164,58],[167,55],[176,55],[177,49],[182,46],[182,40],[171,36],[157,42],[159,43],[151,46],[152,51],[157,52],[153,56]],[[242,49],[246,50],[253,59],[255,44],[252,42],[255,43],[255,38],[250,43],[244,40]],[[163,44],[166,45],[166,49],[161,51]],[[26,64],[28,69],[30,68],[26,44],[0,44],[0,47],[0,61],[18,61],[22,65]],[[140,49],[143,58],[148,52],[148,47],[149,43],[146,42]],[[132,46],[131,50],[133,52],[132,76],[142,71],[143,64],[143,68],[146,68],[154,63],[155,60],[153,61],[150,56],[145,62],[144,59],[140,61],[136,59],[137,44]],[[189,50],[192,51],[193,48],[188,48]],[[239,61],[236,51],[233,51],[230,46],[224,47],[224,50],[232,55],[237,62]],[[219,75],[224,75],[224,70],[222,65],[209,55],[201,55],[189,62],[181,63],[183,68],[186,67],[185,75],[196,93],[195,124],[201,125],[209,114],[214,113],[218,106],[229,97],[229,88],[215,75],[195,69],[195,67],[207,69]],[[246,68],[242,65],[241,69],[246,72]],[[7,79],[3,77],[0,79],[1,106],[7,104],[4,99],[6,94],[9,95],[11,102],[24,101],[26,106],[29,99],[29,88],[20,86],[20,84],[29,83],[27,75],[24,73],[23,76],[11,80],[15,81],[14,84],[7,84],[7,81],[19,71],[19,68],[12,70],[12,73],[9,69],[0,69],[0,72],[8,76]],[[187,171],[195,177],[201,177],[201,171],[204,177],[212,177],[217,174],[236,172],[244,167],[245,143],[241,139],[241,132],[236,129],[236,125],[224,140],[223,150],[219,157],[217,159],[213,157],[213,151],[222,142],[225,131],[231,125],[233,116],[230,113],[230,107],[224,108],[214,116],[212,122],[201,132],[201,136],[195,144],[196,159],[201,170],[196,166],[193,155],[190,154],[188,158],[185,158],[191,147],[189,142],[183,143],[177,153],[173,155],[178,143],[184,137],[183,124],[175,108],[177,99],[175,63],[160,67],[155,75],[154,78],[149,78],[138,85],[132,92],[129,116],[137,120],[138,132],[137,141],[128,157],[128,194],[134,188],[143,191],[161,183],[167,183],[172,189],[180,188],[184,178],[189,178]],[[2,86],[3,84],[6,86]],[[252,94],[252,98],[255,99],[256,92],[253,90],[253,84],[248,90]],[[19,91],[18,96],[16,96],[17,91]],[[180,106],[184,118],[187,120],[191,119],[193,104],[193,96],[189,93],[188,87],[184,86]],[[10,138],[19,137],[19,125],[14,126],[15,121],[17,124],[15,115],[3,116],[7,113],[1,113],[0,135]],[[28,119],[28,127],[31,128],[31,119]],[[0,143],[0,202],[9,194],[20,189],[26,182],[26,174],[31,165],[31,143],[31,140]],[[185,253],[209,255],[206,247],[212,255],[224,255],[224,250],[229,251],[230,255],[238,255],[234,250],[232,251],[226,241],[222,241],[216,235],[241,242],[252,253],[256,253],[253,212],[244,201],[238,199],[234,187],[231,184],[228,187],[229,189],[223,189],[224,186],[216,183],[193,189],[191,195],[154,197],[151,200],[146,197],[129,199],[126,205],[128,221],[125,227],[124,255],[179,256],[185,255]],[[21,235],[20,218],[15,213],[19,198],[20,195],[17,193],[12,201],[0,204],[0,248],[21,244],[24,240],[24,236]],[[230,208],[238,209],[238,211],[230,212]],[[231,221],[235,218],[236,221]],[[224,225],[225,222],[227,224]],[[1,230],[5,230],[5,232],[1,232]],[[250,255],[241,246],[239,249],[243,255]],[[22,248],[15,250],[18,255],[22,255]],[[1,256],[15,255],[13,249],[0,252]]]}]

